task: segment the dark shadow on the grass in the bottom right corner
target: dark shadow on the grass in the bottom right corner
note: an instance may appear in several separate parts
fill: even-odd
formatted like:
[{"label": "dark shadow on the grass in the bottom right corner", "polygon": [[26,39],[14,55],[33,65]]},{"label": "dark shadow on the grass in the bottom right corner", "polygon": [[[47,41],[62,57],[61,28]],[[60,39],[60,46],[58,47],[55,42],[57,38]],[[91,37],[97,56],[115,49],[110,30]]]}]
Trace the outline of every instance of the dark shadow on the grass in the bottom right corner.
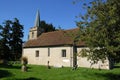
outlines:
[{"label": "dark shadow on the grass in the bottom right corner", "polygon": [[98,76],[98,77],[105,77],[106,80],[120,80],[120,74],[113,74],[113,73],[102,74],[102,73],[96,73],[95,75]]}]

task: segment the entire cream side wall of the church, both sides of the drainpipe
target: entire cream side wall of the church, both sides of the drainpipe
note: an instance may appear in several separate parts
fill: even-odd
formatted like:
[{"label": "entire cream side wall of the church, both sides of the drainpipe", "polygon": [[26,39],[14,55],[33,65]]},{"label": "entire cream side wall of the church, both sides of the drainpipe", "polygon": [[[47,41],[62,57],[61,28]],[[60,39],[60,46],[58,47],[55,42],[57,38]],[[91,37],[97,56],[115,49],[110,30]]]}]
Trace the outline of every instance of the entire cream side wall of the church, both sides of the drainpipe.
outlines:
[{"label": "entire cream side wall of the church, both sides of the drainpipe", "polygon": [[[49,48],[49,49],[48,49]],[[83,48],[77,48],[79,53]],[[50,56],[48,56],[48,50]],[[66,57],[62,57],[62,50],[66,50]],[[36,57],[36,51],[39,51],[39,57]],[[23,56],[28,57],[28,64],[36,65],[49,65],[55,67],[72,67],[73,65],[73,47],[44,47],[44,48],[24,48]],[[109,69],[109,61],[106,60],[105,63],[101,61],[98,64],[91,65],[90,60],[88,61],[86,57],[77,57],[78,67],[88,67],[88,68],[100,68]]]}]

